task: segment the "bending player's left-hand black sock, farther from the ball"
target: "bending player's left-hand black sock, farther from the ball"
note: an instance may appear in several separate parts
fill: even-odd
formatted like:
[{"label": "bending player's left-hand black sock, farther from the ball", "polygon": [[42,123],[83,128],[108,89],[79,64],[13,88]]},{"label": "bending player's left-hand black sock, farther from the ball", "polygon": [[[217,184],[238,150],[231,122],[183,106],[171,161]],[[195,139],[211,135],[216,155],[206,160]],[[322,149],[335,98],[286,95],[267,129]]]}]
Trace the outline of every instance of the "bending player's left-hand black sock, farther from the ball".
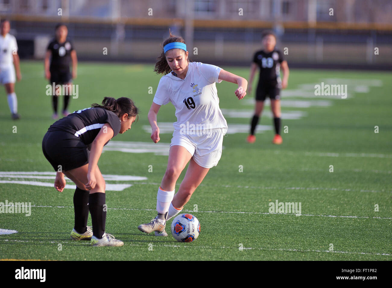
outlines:
[{"label": "bending player's left-hand black sock, farther from the ball", "polygon": [[87,231],[87,219],[89,218],[89,190],[76,187],[74,193],[75,230],[83,234]]}]

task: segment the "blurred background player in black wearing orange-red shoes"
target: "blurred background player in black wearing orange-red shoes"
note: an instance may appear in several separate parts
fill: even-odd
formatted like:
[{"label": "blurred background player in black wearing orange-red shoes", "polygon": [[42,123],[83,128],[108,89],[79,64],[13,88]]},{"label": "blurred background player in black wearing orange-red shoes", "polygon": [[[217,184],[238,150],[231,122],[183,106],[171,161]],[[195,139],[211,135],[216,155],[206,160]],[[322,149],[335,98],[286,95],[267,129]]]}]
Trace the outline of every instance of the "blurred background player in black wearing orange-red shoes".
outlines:
[{"label": "blurred background player in black wearing orange-red shoes", "polygon": [[[250,135],[247,138],[249,143],[256,141],[254,136],[257,123],[260,120],[260,114],[263,111],[264,100],[269,96],[271,100],[271,110],[274,115],[275,137],[272,140],[274,144],[281,144],[280,136],[280,89],[285,89],[289,81],[289,66],[283,59],[281,51],[275,49],[276,37],[271,31],[262,34],[263,50],[254,54],[253,63],[250,65],[250,77],[248,92],[252,91],[253,77],[257,67],[260,67],[260,78],[256,91],[256,107],[254,116],[251,121]],[[280,78],[280,69],[283,71],[283,79]]]}]

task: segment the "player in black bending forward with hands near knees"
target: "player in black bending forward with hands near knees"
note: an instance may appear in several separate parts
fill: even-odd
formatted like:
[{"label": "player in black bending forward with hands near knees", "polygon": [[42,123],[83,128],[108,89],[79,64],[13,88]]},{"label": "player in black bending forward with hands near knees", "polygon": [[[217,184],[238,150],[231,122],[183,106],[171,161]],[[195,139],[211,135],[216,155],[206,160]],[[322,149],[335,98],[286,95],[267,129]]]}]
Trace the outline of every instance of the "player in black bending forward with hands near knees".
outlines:
[{"label": "player in black bending forward with hands near knees", "polygon": [[[131,99],[105,97],[102,105],[75,111],[54,122],[42,140],[42,151],[56,173],[54,188],[62,192],[64,175],[76,184],[74,240],[91,239],[93,246],[122,246],[105,233],[105,180],[98,168],[103,146],[118,133],[131,129],[138,115]],[[91,214],[93,231],[87,227]]]}]

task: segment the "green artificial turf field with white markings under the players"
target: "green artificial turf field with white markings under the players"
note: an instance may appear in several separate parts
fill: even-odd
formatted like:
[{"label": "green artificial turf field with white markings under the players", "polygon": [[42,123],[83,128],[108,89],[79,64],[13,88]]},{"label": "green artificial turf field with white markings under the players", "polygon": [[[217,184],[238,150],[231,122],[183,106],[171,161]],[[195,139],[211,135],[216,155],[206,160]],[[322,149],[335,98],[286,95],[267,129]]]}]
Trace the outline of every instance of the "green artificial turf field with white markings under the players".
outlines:
[{"label": "green artificial turf field with white markings under the players", "polygon": [[[16,84],[21,120],[11,120],[1,88],[0,202],[30,202],[32,207],[29,217],[0,214],[0,229],[18,231],[0,235],[0,259],[392,260],[390,72],[291,69],[282,112],[294,119],[282,120],[283,144],[271,143],[269,106],[259,124],[270,130],[260,129],[256,143],[246,143],[246,131],[227,134],[218,166],[184,208],[200,220],[201,234],[193,243],[178,243],[170,235],[171,220],[166,228],[169,237],[137,229],[156,216],[156,193],[167,164],[166,155],[151,150],[154,143],[148,127],[143,129],[160,76],[152,72],[153,65],[80,63],[74,80],[79,85],[78,98],[71,99],[70,111],[100,103],[104,96],[130,97],[141,110],[139,121],[111,140],[99,161],[102,174],[144,178],[107,177],[112,179],[107,185],[114,187],[132,184],[107,191],[106,197],[106,232],[125,244],[98,248],[69,239],[74,190],[59,193],[51,187],[53,168],[41,150],[42,138],[53,123],[43,63],[22,62],[21,66],[23,79]],[[248,68],[223,68],[245,78],[249,75]],[[314,85],[321,82],[348,84],[347,99],[315,96]],[[230,127],[249,125],[246,114],[253,109],[253,95],[239,101],[234,95],[236,85],[222,82],[217,88],[229,132]],[[175,120],[170,103],[161,107],[158,125]],[[283,133],[284,126],[288,133]],[[168,151],[171,133],[160,138],[158,144]],[[122,144],[119,141],[131,145],[131,151],[135,149],[132,142],[145,142],[151,151],[115,151],[114,144]],[[184,175],[185,171],[176,189]],[[45,183],[49,186],[42,186]],[[270,214],[269,203],[276,200],[301,203],[301,216]]]}]

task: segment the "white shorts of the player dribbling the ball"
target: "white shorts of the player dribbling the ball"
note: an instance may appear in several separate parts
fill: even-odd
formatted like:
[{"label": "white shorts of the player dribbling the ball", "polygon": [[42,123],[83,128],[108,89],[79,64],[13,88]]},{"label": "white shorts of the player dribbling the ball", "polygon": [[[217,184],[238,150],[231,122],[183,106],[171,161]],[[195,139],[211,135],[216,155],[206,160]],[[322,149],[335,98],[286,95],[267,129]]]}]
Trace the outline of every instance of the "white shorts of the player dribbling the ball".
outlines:
[{"label": "white shorts of the player dribbling the ball", "polygon": [[212,168],[218,165],[222,155],[223,136],[227,128],[205,130],[205,133],[197,132],[182,133],[174,130],[170,147],[179,145],[191,153],[194,161],[204,168]]}]

